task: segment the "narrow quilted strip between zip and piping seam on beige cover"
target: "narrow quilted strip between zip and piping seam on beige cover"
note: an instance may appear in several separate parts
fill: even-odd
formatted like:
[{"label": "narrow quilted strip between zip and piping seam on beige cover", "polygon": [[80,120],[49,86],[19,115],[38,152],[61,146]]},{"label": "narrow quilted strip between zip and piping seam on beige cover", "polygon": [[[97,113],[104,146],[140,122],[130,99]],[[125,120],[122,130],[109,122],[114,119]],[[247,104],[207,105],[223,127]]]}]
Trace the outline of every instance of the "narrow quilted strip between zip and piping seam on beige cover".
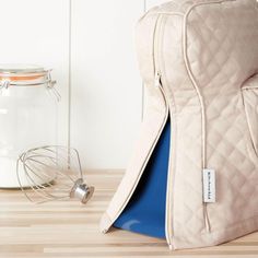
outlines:
[{"label": "narrow quilted strip between zip and piping seam on beige cover", "polygon": [[[166,20],[162,51],[164,90],[172,104],[173,234],[188,242],[204,228],[201,186],[201,109],[181,57],[181,17]],[[174,108],[175,106],[175,108]],[[195,148],[192,148],[195,146]],[[174,149],[174,146],[173,146]],[[190,243],[190,239],[189,239]]]}]

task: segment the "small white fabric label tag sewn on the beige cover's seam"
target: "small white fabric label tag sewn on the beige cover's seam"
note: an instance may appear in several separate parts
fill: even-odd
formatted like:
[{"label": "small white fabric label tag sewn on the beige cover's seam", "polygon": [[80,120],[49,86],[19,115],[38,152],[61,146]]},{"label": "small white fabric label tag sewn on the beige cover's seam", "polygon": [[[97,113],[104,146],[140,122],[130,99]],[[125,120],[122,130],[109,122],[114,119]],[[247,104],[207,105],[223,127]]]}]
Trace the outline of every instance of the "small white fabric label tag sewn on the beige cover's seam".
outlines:
[{"label": "small white fabric label tag sewn on the beige cover's seam", "polygon": [[215,171],[206,168],[202,171],[203,201],[215,202]]}]

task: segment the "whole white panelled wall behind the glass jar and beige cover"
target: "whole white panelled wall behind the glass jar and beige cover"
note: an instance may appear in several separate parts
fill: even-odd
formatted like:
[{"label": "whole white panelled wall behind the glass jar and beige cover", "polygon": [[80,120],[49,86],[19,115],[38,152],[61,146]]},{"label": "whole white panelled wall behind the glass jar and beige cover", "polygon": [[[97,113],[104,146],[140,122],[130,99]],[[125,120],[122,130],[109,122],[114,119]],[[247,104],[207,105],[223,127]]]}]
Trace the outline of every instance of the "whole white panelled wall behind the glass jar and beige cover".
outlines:
[{"label": "whole white panelled wall behind the glass jar and beige cover", "polygon": [[143,105],[134,25],[160,2],[0,0],[0,62],[54,68],[59,143],[77,148],[84,167],[127,165]]}]

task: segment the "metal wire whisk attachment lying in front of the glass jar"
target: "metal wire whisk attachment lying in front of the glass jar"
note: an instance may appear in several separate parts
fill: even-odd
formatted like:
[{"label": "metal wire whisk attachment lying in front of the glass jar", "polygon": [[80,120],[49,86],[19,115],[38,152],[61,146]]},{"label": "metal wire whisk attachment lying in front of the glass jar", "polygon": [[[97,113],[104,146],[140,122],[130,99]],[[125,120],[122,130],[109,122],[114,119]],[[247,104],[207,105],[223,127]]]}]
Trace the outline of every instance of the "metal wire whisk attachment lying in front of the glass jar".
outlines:
[{"label": "metal wire whisk attachment lying in front of the glass jar", "polygon": [[94,192],[83,180],[79,152],[62,145],[45,145],[22,153],[16,163],[19,185],[36,203],[79,198],[86,203]]}]

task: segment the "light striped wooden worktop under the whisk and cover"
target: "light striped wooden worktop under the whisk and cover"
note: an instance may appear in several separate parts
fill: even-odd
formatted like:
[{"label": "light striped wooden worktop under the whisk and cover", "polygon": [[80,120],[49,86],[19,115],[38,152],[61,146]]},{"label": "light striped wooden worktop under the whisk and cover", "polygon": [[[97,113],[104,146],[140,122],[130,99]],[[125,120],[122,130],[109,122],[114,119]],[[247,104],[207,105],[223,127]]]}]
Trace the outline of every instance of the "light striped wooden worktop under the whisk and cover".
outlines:
[{"label": "light striped wooden worktop under the whisk and cover", "polygon": [[92,200],[34,204],[20,190],[0,190],[0,257],[249,257],[258,258],[258,233],[201,249],[171,251],[163,239],[113,230],[98,222],[119,184],[122,171],[94,171]]}]

